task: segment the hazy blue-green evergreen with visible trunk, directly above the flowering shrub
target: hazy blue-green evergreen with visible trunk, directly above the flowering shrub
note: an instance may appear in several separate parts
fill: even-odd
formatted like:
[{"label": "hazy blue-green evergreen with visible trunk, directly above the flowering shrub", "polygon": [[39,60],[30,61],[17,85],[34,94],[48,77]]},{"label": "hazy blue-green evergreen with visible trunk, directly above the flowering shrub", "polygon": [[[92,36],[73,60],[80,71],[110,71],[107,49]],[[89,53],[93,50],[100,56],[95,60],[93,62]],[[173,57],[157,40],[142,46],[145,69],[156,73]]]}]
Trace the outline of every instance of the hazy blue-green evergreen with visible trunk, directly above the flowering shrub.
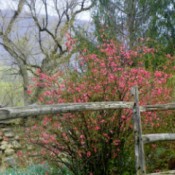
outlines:
[{"label": "hazy blue-green evergreen with visible trunk, directly above the flowering shrub", "polygon": [[145,6],[146,3],[141,6],[140,0],[98,0],[93,11],[96,29],[106,27],[110,37],[127,41],[131,48],[143,35],[143,24],[148,15]]}]

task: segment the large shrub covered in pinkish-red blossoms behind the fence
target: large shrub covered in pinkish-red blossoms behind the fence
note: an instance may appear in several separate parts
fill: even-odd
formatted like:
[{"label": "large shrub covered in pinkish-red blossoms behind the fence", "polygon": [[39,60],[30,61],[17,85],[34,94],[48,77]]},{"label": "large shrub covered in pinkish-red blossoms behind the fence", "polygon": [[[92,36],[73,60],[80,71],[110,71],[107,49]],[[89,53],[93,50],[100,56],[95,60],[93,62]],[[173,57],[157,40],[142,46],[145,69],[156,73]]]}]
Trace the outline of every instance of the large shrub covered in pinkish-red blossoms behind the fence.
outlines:
[{"label": "large shrub covered in pinkish-red blossoms behind the fence", "polygon": [[[144,67],[145,55],[153,57],[154,52],[146,47],[126,50],[113,41],[100,45],[98,54],[84,49],[69,75],[38,71],[42,81],[35,79],[34,86],[43,88],[38,100],[41,104],[132,101],[130,89],[137,85],[141,104],[169,102],[171,89],[166,84],[171,75]],[[127,152],[133,142],[131,118],[132,111],[123,109],[58,114],[45,116],[29,131],[43,156],[75,175],[133,174],[134,160]],[[161,118],[146,113],[143,123],[156,128]]]}]

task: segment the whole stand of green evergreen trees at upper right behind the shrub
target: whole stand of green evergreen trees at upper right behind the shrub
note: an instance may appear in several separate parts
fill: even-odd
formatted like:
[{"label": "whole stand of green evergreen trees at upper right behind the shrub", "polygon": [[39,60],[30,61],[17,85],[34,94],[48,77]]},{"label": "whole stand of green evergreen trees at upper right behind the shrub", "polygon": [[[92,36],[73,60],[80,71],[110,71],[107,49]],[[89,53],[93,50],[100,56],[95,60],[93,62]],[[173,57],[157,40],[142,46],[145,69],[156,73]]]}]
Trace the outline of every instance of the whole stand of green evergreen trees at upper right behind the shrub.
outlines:
[{"label": "whole stand of green evergreen trees at upper right behind the shrub", "polygon": [[173,54],[174,8],[173,0],[97,0],[92,14],[97,33],[105,28],[130,48],[139,38],[150,37]]}]

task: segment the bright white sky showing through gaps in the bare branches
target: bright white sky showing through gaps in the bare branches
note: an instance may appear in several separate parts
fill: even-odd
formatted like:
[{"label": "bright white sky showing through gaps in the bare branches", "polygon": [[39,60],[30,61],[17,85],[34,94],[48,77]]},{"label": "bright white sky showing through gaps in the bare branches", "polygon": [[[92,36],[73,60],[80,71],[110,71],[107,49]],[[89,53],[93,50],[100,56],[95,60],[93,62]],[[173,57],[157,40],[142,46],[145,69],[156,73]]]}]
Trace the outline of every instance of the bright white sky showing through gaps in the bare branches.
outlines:
[{"label": "bright white sky showing through gaps in the bare branches", "polygon": [[[37,2],[39,2],[39,1],[40,0],[38,0]],[[61,5],[62,4],[60,4],[60,7],[61,7]],[[0,0],[0,9],[15,9],[15,8],[16,8],[15,0]],[[38,10],[40,11],[40,14],[42,14],[42,8],[39,8]],[[51,16],[54,16],[52,1],[50,1],[50,3],[49,3],[48,11],[49,11],[49,14]],[[89,11],[82,12],[81,14],[79,14],[77,16],[77,18],[80,20],[90,20],[91,19],[90,12]]]}]

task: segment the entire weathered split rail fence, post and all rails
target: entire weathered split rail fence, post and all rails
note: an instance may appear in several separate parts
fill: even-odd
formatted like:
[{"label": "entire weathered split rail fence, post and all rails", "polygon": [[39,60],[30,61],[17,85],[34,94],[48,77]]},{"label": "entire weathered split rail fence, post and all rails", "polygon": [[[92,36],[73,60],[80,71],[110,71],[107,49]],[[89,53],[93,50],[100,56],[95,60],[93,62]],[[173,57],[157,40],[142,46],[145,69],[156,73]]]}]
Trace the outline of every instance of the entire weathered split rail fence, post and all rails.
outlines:
[{"label": "entire weathered split rail fence, post and all rails", "polygon": [[139,106],[139,92],[137,87],[131,89],[134,96],[133,102],[89,102],[89,103],[64,103],[54,105],[36,105],[25,107],[5,107],[0,109],[0,122],[16,118],[26,118],[37,115],[58,114],[78,111],[100,111],[104,109],[132,109],[135,137],[136,175],[175,175],[175,170],[146,174],[144,144],[156,141],[173,141],[175,133],[142,134],[140,112],[175,110],[175,103]]}]

